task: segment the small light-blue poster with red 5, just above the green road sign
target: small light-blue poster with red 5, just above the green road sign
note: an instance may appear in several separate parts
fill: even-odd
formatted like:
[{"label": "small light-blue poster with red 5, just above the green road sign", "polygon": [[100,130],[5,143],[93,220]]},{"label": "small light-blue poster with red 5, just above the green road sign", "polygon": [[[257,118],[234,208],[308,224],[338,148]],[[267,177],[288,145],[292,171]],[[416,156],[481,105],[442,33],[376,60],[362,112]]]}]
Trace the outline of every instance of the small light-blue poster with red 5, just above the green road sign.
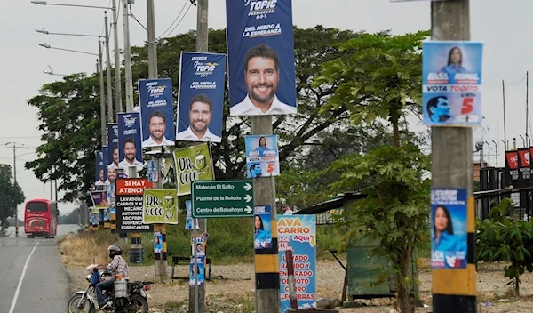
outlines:
[{"label": "small light-blue poster with red 5, just above the green road sign", "polygon": [[246,148],[246,177],[277,176],[280,174],[280,157],[277,135],[244,137]]}]

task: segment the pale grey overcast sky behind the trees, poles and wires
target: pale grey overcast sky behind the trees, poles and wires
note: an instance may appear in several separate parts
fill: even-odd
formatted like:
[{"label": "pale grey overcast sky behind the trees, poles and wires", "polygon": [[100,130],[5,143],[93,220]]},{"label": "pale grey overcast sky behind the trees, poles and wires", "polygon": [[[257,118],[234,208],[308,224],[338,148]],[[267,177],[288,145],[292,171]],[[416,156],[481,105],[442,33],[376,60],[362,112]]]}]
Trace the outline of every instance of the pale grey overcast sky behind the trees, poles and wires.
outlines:
[{"label": "pale grey overcast sky behind the trees, poles and wires", "polygon": [[[118,2],[118,0],[117,0]],[[56,4],[84,4],[110,6],[110,0],[52,0]],[[131,10],[140,23],[146,26],[146,1],[136,0]],[[430,28],[430,4],[427,1],[390,3],[389,0],[293,0],[294,24],[311,28],[317,24],[325,27],[378,32],[391,29],[394,34],[416,32]],[[485,127],[475,132],[475,138],[491,144],[490,163],[495,164],[495,140],[504,139],[502,80],[506,82],[507,140],[516,137],[519,147],[525,134],[525,74],[531,68],[533,43],[530,38],[533,20],[533,2],[523,0],[471,0],[471,40],[485,43],[483,60],[483,115]],[[156,0],[155,30],[161,36],[176,20],[179,25],[166,36],[174,36],[194,29],[195,6],[189,0]],[[187,11],[188,10],[188,11]],[[46,29],[57,33],[89,35],[103,34],[104,12],[99,9],[80,9],[55,5],[30,4],[29,0],[0,0],[0,26],[2,44],[0,59],[3,75],[0,77],[0,162],[12,165],[12,149],[2,148],[7,142],[25,145],[17,150],[17,180],[27,199],[49,197],[49,186],[37,181],[33,172],[24,169],[24,163],[36,157],[34,149],[41,144],[36,109],[28,107],[27,100],[38,94],[43,84],[60,79],[43,73],[48,65],[55,73],[71,74],[95,70],[95,57],[74,52],[44,49],[39,43],[58,48],[98,52],[98,39],[79,36],[52,36],[36,33]],[[122,11],[119,20],[120,46],[123,48]],[[210,28],[225,28],[226,8],[223,0],[211,0]],[[131,45],[144,44],[146,31],[130,19]],[[172,27],[173,28],[173,27]],[[171,30],[171,29],[169,29]],[[113,47],[113,44],[111,44]],[[530,133],[530,132],[529,132]],[[498,148],[498,163],[503,165],[503,146]],[[74,205],[60,205],[61,213],[74,209]],[[20,206],[20,213],[21,206]]]}]

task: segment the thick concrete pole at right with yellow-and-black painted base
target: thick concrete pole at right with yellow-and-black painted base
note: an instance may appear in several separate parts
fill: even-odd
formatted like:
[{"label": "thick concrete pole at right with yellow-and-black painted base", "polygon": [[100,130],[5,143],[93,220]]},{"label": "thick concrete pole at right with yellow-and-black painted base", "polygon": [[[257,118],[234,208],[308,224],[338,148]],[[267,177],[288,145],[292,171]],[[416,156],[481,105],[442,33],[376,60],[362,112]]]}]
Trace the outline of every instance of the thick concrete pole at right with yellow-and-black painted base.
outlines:
[{"label": "thick concrete pole at right with yellow-and-black painted base", "polygon": [[[431,3],[432,40],[470,40],[469,0]],[[434,313],[476,312],[473,134],[467,127],[432,127],[433,188],[466,189],[466,269],[432,269]],[[482,162],[482,161],[481,161]]]}]

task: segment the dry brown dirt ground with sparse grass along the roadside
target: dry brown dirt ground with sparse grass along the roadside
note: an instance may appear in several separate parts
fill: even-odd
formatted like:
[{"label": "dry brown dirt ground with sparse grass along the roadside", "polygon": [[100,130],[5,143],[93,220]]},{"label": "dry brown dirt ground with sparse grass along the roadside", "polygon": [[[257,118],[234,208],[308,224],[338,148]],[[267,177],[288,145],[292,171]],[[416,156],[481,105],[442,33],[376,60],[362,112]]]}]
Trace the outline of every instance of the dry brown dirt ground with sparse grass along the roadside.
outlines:
[{"label": "dry brown dirt ground with sparse grass along the roadside", "polygon": [[[346,261],[344,261],[346,264]],[[318,299],[340,299],[344,279],[344,269],[336,261],[319,261],[317,264],[317,289]],[[171,267],[167,273],[171,276]],[[176,268],[176,276],[187,277],[188,267]],[[87,274],[84,267],[69,266],[68,274],[71,278],[72,290],[81,290],[86,287],[84,276]],[[132,280],[154,280],[155,269],[153,266],[130,266]],[[229,298],[240,299],[251,305],[254,300],[254,269],[253,264],[213,265],[211,277],[219,277],[207,282],[205,290],[209,301],[227,301]],[[220,278],[221,277],[221,278]],[[431,312],[431,269],[424,266],[419,270],[418,276],[421,299],[428,305],[427,308],[418,308],[417,312]],[[533,306],[533,274],[526,272],[521,277],[521,297],[510,296],[510,287],[505,286],[508,280],[503,277],[503,265],[480,264],[478,267],[478,312],[504,313],[504,312],[531,312]],[[163,309],[170,301],[183,305],[188,300],[188,285],[186,280],[178,279],[165,284],[159,283],[152,286],[150,291],[150,307]],[[379,299],[362,301],[367,306],[353,309],[340,309],[342,313],[348,312],[386,312],[393,309],[392,299]],[[235,313],[234,309],[220,311]],[[240,310],[240,309],[239,309]],[[217,311],[217,310],[215,310]]]}]

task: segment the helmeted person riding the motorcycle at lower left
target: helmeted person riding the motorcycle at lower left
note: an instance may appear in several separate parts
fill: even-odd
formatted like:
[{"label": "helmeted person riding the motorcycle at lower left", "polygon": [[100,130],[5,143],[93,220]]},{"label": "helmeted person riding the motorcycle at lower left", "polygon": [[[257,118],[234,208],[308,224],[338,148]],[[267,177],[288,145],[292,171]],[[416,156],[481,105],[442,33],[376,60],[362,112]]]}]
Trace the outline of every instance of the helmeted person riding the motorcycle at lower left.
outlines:
[{"label": "helmeted person riding the motorcycle at lower left", "polygon": [[111,291],[113,285],[115,284],[115,279],[117,277],[122,277],[122,279],[129,279],[128,277],[128,263],[122,257],[122,248],[120,245],[109,245],[107,248],[109,251],[109,258],[112,259],[111,263],[107,264],[107,267],[99,267],[97,269],[106,269],[113,274],[113,279],[107,281],[99,282],[96,284],[96,295],[98,300],[99,308],[97,310],[103,310],[107,308],[108,304],[105,302],[104,295],[102,290]]}]

